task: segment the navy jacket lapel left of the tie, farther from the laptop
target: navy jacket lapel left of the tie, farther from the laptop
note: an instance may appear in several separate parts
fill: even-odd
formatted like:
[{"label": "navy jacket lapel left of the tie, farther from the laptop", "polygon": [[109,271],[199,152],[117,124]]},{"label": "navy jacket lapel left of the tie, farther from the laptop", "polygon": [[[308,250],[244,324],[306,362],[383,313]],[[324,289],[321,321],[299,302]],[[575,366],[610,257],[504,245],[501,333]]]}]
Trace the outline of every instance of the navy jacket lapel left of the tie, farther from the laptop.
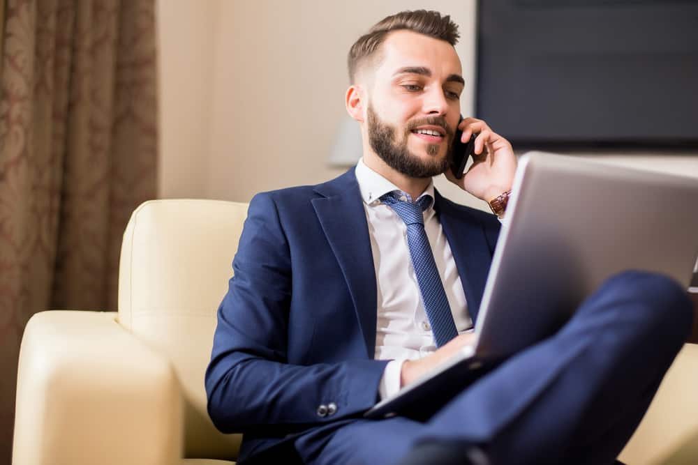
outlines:
[{"label": "navy jacket lapel left of the tie, farther from the laptop", "polygon": [[323,197],[311,202],[339,263],[352,297],[366,352],[376,351],[376,268],[369,227],[354,169],[315,188]]}]

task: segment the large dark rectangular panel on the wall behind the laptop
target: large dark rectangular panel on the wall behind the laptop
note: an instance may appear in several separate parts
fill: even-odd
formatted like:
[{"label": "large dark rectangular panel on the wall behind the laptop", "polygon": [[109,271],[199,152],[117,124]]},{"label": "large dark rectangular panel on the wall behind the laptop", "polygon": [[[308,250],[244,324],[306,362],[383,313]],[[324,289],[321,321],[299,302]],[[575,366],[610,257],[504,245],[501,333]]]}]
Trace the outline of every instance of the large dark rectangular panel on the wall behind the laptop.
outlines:
[{"label": "large dark rectangular panel on the wall behind the laptop", "polygon": [[476,105],[518,148],[698,147],[698,1],[482,0]]}]

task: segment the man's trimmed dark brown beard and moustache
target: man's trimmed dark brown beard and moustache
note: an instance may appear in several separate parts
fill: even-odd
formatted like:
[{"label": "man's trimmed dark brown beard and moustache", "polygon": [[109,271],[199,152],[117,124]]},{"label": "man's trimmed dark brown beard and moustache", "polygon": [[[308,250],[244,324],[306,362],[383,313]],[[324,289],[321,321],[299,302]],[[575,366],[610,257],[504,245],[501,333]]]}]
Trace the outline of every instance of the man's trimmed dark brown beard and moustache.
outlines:
[{"label": "man's trimmed dark brown beard and moustache", "polygon": [[[380,121],[378,114],[369,105],[367,119],[369,132],[369,144],[386,165],[410,178],[431,178],[446,171],[448,159],[451,155],[451,142],[453,131],[441,116],[431,116],[419,121],[408,123],[408,127],[400,140],[396,139],[396,128]],[[419,155],[410,152],[407,148],[408,137],[413,129],[420,125],[438,125],[446,131],[447,153],[444,158],[438,159],[436,155],[441,148],[440,144],[426,144],[426,153],[433,158],[422,160]]]}]

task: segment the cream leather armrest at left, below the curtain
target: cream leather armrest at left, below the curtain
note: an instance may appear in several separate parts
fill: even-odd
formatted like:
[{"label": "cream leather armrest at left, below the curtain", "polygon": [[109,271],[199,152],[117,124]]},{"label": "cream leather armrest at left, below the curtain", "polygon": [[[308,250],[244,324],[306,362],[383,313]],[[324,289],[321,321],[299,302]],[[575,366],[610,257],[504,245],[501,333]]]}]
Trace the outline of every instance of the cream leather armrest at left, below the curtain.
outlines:
[{"label": "cream leather armrest at left, below the curtain", "polygon": [[173,464],[182,406],[167,358],[116,312],[59,311],[27,323],[17,373],[13,464]]}]

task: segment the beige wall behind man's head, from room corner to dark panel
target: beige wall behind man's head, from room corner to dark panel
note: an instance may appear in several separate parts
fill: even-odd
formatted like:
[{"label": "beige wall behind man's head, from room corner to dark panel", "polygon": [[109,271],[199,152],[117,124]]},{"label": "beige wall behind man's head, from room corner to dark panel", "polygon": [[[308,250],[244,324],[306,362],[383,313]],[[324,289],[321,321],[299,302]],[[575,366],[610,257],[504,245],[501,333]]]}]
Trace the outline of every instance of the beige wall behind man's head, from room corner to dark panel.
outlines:
[{"label": "beige wall behind man's head, from room corner to dark panel", "polygon": [[[346,52],[382,17],[422,6],[447,11],[473,36],[472,1],[224,2],[207,195],[248,200],[341,173],[327,157],[346,115]],[[459,49],[474,60],[473,41]]]}]

